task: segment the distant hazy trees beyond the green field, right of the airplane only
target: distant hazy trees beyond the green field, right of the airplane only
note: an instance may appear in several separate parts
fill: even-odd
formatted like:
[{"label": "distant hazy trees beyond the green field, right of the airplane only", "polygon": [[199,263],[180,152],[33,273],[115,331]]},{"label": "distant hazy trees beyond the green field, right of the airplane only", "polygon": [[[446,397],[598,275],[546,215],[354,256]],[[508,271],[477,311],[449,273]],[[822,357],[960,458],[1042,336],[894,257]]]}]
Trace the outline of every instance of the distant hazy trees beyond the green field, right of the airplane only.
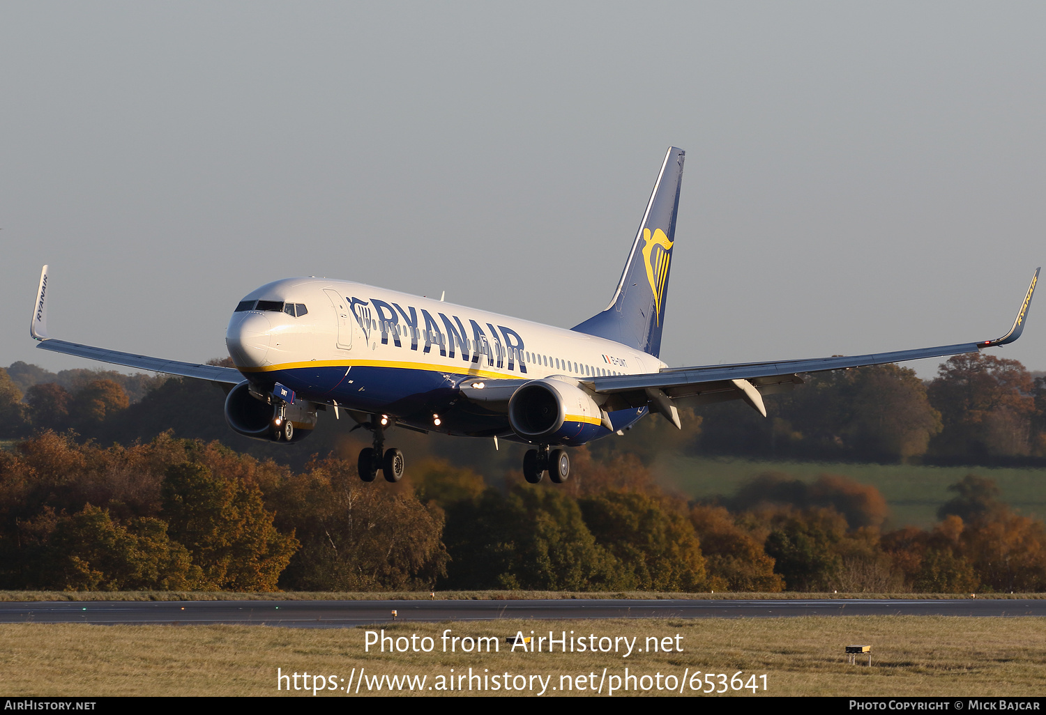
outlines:
[{"label": "distant hazy trees beyond the green field, right of the airplane only", "polygon": [[1016,360],[955,355],[926,383],[895,365],[804,378],[805,385],[767,400],[766,420],[733,405],[703,411],[690,447],[982,465],[1046,458],[1046,378]]}]

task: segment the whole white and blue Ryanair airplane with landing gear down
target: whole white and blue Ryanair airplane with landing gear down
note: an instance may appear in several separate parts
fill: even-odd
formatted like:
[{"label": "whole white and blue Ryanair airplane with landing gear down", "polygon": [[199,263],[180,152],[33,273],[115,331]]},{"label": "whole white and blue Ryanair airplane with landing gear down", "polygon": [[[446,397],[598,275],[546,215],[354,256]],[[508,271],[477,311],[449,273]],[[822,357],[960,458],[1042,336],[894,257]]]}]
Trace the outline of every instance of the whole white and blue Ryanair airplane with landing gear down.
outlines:
[{"label": "whole white and blue Ryanair airplane with landing gear down", "polygon": [[[369,430],[360,478],[404,472],[385,431],[400,426],[533,445],[530,483],[570,475],[565,446],[622,434],[652,412],[680,428],[678,406],[742,399],[766,416],[764,395],[793,389],[801,374],[976,352],[1017,340],[1039,278],[1002,338],[855,356],[668,368],[658,355],[676,244],[685,153],[669,147],[606,309],[570,329],[441,300],[327,278],[286,278],[235,306],[225,341],[235,369],[192,365],[54,340],[47,335],[48,272],[32,308],[37,347],[211,380],[226,391],[229,426],[292,443],[317,412],[344,412]],[[355,428],[354,428],[355,429]]]}]

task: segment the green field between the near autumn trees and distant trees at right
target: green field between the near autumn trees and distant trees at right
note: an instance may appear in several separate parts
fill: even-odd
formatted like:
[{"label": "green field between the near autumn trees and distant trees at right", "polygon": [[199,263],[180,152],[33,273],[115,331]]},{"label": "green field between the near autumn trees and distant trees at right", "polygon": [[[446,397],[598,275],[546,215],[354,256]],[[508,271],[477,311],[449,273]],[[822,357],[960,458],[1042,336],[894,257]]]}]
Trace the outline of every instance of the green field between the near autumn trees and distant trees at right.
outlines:
[{"label": "green field between the near autumn trees and distant trees at right", "polygon": [[654,464],[658,482],[688,497],[732,494],[763,471],[781,471],[804,482],[818,475],[844,475],[870,484],[890,506],[888,528],[926,528],[937,521],[937,508],[953,495],[948,487],[969,474],[995,480],[1002,501],[1026,516],[1046,520],[1046,469],[1009,467],[937,467],[903,464],[770,462],[672,455]]}]

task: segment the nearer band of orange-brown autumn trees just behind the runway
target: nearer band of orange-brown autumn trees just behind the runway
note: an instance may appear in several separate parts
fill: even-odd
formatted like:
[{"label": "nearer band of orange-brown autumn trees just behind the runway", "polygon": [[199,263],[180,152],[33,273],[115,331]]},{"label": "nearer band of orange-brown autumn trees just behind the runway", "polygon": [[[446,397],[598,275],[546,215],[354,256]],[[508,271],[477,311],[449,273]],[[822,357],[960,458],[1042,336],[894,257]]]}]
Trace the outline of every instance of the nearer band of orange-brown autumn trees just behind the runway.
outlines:
[{"label": "nearer band of orange-brown autumn trees just behind the runway", "polygon": [[[884,530],[873,487],[755,477],[686,501],[637,457],[575,452],[565,485],[428,460],[292,469],[163,434],[109,447],[44,431],[0,452],[0,587],[53,590],[1036,592],[1046,528],[988,481],[931,529]],[[506,486],[510,485],[510,486]]]}]

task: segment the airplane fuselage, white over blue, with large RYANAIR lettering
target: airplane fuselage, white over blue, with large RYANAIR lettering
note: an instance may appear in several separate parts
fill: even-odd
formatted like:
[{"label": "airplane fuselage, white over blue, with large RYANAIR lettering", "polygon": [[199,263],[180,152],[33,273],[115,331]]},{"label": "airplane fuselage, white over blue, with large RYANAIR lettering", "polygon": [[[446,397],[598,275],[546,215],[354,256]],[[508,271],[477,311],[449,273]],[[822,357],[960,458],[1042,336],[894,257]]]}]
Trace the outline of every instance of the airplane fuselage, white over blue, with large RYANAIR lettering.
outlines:
[{"label": "airplane fuselage, white over blue, with large RYANAIR lettering", "polygon": [[450,409],[440,390],[468,378],[576,384],[664,367],[612,340],[323,278],[251,292],[229,321],[226,343],[252,383],[278,382],[311,401],[408,418],[402,413]]}]

